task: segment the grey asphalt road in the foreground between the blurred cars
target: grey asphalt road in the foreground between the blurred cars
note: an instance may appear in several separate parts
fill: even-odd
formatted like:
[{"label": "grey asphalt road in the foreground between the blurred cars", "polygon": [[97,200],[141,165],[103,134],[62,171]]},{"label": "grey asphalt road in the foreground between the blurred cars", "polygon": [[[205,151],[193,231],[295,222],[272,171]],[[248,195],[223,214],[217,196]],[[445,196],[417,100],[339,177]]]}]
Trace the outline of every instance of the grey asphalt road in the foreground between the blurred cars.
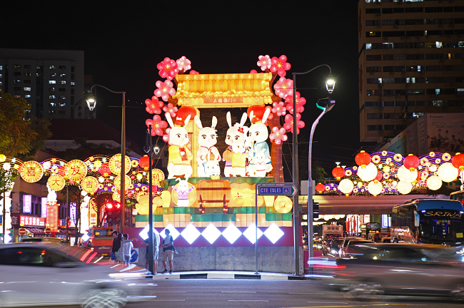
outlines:
[{"label": "grey asphalt road in the foreground between the blurred cars", "polygon": [[317,280],[179,279],[156,283],[156,300],[126,307],[464,307],[464,302],[439,297],[373,295],[353,298]]}]

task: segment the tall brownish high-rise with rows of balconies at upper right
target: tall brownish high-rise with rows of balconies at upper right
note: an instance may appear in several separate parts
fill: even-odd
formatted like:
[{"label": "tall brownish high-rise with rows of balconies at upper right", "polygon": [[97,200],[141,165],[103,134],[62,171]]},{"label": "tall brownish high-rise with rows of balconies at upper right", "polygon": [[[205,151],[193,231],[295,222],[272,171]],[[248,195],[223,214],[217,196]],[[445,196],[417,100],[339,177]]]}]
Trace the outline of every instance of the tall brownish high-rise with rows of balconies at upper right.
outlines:
[{"label": "tall brownish high-rise with rows of balconies at upper right", "polygon": [[463,112],[463,0],[360,0],[358,14],[360,141]]}]

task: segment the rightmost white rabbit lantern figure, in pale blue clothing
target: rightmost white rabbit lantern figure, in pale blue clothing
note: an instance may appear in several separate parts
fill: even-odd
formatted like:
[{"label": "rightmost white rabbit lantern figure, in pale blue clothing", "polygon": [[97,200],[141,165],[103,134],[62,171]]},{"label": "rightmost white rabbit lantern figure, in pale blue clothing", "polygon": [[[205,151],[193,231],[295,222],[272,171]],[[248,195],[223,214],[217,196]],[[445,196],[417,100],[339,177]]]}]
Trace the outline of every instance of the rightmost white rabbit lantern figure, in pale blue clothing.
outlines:
[{"label": "rightmost white rabbit lantern figure, in pale blue clothing", "polygon": [[[264,111],[263,119],[259,122],[251,123],[250,130],[248,131],[249,142],[251,142],[251,148],[248,151],[248,173],[250,176],[261,176],[263,174],[263,171],[258,171],[259,175],[256,173],[256,170],[263,169],[261,164],[258,163],[261,160],[266,161],[266,167],[264,168],[266,173],[272,170],[271,151],[269,150],[268,143],[266,143],[269,133],[267,126],[264,124],[268,120],[270,113],[271,109],[267,108]],[[250,120],[253,120],[253,111],[250,113]]]}]

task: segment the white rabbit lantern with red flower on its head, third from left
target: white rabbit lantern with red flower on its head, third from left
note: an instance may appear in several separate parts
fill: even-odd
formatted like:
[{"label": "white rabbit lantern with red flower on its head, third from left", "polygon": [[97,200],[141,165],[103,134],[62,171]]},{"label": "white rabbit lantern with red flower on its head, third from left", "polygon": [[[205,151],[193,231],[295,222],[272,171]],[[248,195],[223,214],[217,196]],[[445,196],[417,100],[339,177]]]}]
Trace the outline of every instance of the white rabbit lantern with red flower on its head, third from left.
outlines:
[{"label": "white rabbit lantern with red flower on its head, third from left", "polygon": [[[232,118],[231,118],[230,111],[227,113],[226,119],[227,119],[229,128],[227,130],[227,135],[226,135],[226,145],[228,145],[228,148],[223,153],[223,161],[226,162],[226,166],[224,167],[224,175],[226,175],[226,177],[231,177],[233,175],[233,167],[232,167],[232,160],[233,160],[233,154],[234,154],[233,145],[236,145],[237,147],[240,147],[241,145],[245,145],[246,132],[248,131],[248,127],[243,126],[246,122],[246,113],[243,113],[240,123],[235,123],[234,125],[232,125]],[[236,147],[236,150],[238,150],[237,147]]]}]

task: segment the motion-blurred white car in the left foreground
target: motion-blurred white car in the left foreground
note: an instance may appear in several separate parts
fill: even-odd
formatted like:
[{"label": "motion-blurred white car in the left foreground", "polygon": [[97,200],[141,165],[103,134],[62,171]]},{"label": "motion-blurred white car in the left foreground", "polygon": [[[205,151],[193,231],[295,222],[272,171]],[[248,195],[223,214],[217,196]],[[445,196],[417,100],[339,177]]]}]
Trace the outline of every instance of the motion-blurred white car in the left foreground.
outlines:
[{"label": "motion-blurred white car in the left foreground", "polygon": [[80,247],[46,242],[0,245],[0,307],[123,307],[156,297],[149,295],[156,284],[142,279],[145,270],[131,265],[118,272],[94,264],[98,261],[96,252]]}]

